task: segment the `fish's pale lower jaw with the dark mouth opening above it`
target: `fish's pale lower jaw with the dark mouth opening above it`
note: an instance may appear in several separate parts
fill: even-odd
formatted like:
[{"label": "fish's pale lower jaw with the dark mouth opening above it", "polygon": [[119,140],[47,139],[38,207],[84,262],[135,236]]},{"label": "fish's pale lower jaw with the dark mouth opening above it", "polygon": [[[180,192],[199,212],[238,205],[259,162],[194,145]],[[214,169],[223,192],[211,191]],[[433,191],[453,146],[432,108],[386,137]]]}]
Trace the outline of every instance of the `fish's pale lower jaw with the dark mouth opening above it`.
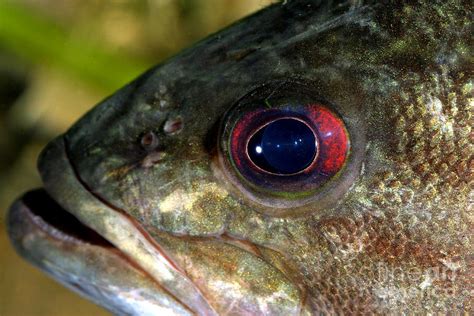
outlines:
[{"label": "fish's pale lower jaw with the dark mouth opening above it", "polygon": [[31,190],[14,202],[8,233],[25,259],[114,314],[193,314],[137,262],[44,189]]}]

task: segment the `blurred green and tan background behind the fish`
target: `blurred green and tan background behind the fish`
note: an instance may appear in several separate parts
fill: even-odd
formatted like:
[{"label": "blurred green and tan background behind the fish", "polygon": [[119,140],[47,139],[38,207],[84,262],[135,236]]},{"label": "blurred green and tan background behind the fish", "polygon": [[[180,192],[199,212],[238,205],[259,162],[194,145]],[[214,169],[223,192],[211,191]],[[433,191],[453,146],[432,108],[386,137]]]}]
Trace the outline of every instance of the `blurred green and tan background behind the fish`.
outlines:
[{"label": "blurred green and tan background behind the fish", "polygon": [[0,315],[107,313],[23,262],[8,206],[45,143],[148,67],[272,0],[0,0]]}]

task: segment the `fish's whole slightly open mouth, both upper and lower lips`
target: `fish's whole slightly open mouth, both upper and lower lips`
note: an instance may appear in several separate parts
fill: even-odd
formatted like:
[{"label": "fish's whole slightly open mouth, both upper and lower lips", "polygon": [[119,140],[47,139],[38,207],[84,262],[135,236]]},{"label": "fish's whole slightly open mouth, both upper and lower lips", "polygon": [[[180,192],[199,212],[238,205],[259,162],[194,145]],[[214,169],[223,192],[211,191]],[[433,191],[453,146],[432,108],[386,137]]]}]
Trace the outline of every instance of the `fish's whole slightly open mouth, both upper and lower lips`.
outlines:
[{"label": "fish's whole slightly open mouth, both upper and lower lips", "polygon": [[63,137],[47,145],[38,165],[44,188],[25,193],[8,213],[8,233],[21,256],[114,313],[217,314],[133,218],[83,185]]}]

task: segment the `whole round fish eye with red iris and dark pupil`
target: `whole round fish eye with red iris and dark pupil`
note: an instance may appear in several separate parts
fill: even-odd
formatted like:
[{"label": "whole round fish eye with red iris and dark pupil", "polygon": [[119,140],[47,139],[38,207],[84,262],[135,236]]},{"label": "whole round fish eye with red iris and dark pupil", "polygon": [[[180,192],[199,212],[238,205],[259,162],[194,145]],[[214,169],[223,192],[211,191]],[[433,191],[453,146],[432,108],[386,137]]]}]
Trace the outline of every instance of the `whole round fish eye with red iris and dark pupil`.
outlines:
[{"label": "whole round fish eye with red iris and dark pupil", "polygon": [[305,87],[254,91],[228,111],[221,128],[227,174],[245,193],[278,205],[308,200],[337,179],[350,149],[341,116]]}]

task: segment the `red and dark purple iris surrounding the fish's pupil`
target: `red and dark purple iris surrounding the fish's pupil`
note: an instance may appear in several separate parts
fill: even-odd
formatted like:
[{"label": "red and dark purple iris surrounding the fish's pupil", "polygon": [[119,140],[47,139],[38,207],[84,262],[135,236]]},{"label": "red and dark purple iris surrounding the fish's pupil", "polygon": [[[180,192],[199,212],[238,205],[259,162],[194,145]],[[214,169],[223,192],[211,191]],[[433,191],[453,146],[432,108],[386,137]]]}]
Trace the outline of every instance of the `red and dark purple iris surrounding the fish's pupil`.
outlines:
[{"label": "red and dark purple iris surrounding the fish's pupil", "polygon": [[[311,136],[314,135],[312,141],[316,140],[316,144],[302,147],[298,149],[300,152],[294,153],[296,161],[296,155],[301,154],[301,150],[310,148],[307,150],[313,150],[314,153],[306,157],[314,157],[312,161],[304,165],[300,171],[289,174],[265,170],[254,161],[255,159],[252,160],[248,150],[249,142],[257,132],[282,119],[304,123],[304,126],[311,130]],[[294,134],[292,131],[281,131],[279,135],[285,133]],[[293,141],[295,138],[290,139]],[[259,151],[261,150],[259,148]],[[280,186],[279,191],[283,192],[312,191],[342,169],[349,153],[349,139],[342,119],[320,104],[254,108],[243,113],[235,123],[230,133],[229,153],[234,167],[253,185],[271,190]],[[287,155],[291,161],[291,151]]]}]

